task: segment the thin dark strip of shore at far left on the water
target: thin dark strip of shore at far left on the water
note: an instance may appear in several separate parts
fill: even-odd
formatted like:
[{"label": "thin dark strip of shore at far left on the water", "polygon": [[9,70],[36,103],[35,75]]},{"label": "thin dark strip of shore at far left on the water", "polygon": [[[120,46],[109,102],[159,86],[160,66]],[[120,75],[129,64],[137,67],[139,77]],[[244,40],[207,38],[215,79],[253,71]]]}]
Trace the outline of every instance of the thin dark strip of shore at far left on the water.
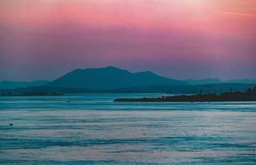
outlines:
[{"label": "thin dark strip of shore at far left on the water", "polygon": [[62,96],[62,93],[56,92],[42,92],[42,91],[25,91],[23,93],[12,93],[12,92],[3,92],[1,97],[17,97],[17,96]]}]

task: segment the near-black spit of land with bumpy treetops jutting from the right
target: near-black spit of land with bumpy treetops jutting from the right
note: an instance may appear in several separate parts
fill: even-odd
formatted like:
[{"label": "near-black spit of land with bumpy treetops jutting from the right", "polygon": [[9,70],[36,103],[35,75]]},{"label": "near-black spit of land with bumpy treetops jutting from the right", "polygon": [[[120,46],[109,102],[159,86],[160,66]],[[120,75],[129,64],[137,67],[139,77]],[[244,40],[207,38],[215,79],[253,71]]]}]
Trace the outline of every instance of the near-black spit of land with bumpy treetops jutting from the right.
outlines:
[{"label": "near-black spit of land with bumpy treetops jutting from the right", "polygon": [[221,95],[216,93],[198,95],[176,95],[173,97],[158,98],[116,98],[114,102],[248,102],[256,101],[256,87],[249,88],[246,92],[225,92]]}]

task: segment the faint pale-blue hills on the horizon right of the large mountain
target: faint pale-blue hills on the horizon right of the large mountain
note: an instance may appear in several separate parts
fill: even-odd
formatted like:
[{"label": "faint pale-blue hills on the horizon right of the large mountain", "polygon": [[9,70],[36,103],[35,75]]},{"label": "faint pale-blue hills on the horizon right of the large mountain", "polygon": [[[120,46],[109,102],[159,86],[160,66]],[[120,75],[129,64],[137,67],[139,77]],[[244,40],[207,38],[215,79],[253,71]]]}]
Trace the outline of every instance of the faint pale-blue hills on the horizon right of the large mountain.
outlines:
[{"label": "faint pale-blue hills on the horizon right of the large mountain", "polygon": [[186,83],[191,85],[201,85],[201,84],[216,84],[216,83],[236,83],[236,84],[256,84],[256,80],[252,79],[232,79],[228,81],[221,81],[220,79],[187,79]]}]

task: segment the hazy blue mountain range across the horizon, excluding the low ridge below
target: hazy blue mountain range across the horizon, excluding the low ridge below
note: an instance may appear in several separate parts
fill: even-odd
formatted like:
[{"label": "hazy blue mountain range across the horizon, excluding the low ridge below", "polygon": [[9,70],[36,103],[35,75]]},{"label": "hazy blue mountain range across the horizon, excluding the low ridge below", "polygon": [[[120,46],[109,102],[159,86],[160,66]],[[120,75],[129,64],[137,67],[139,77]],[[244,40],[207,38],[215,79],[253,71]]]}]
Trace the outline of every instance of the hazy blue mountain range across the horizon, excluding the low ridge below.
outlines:
[{"label": "hazy blue mountain range across the horizon, excluding the low ridge below", "polygon": [[179,81],[161,77],[153,72],[131,73],[116,67],[76,69],[54,81],[0,82],[0,90],[45,86],[53,88],[84,88],[90,90],[113,90],[142,86],[190,86],[202,84],[256,84],[256,80],[234,79],[187,79]]}]

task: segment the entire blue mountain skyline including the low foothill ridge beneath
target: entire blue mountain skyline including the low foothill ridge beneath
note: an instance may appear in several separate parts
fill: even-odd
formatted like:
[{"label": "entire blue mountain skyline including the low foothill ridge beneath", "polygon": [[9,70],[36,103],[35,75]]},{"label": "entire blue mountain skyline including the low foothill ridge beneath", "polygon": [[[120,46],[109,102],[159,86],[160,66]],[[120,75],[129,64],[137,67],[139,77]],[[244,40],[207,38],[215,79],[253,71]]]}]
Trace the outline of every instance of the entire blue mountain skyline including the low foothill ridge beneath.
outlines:
[{"label": "entire blue mountain skyline including the low foothill ridge beneath", "polygon": [[256,80],[188,79],[179,81],[152,72],[131,73],[116,67],[77,69],[49,81],[0,82],[0,92],[58,91],[61,93],[223,93],[229,88],[245,91]]}]

